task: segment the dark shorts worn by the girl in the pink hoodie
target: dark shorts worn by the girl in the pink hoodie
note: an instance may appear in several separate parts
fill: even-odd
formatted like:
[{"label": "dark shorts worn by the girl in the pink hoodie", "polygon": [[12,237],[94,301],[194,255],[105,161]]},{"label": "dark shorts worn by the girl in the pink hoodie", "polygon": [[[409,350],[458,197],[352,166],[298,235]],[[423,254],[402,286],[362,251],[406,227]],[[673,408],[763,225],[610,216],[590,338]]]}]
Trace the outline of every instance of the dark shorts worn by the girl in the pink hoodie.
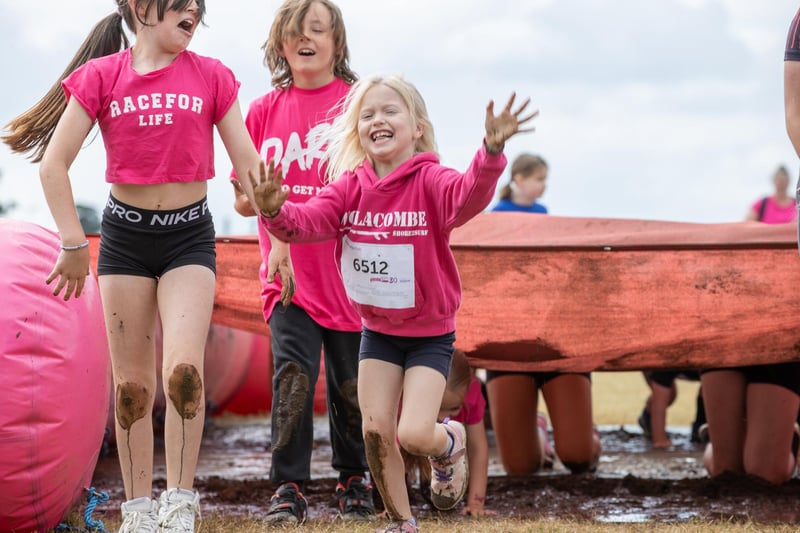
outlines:
[{"label": "dark shorts worn by the girl in the pink hoodie", "polygon": [[363,328],[358,359],[379,359],[405,370],[412,366],[427,366],[447,379],[455,342],[455,333],[433,337],[399,337]]}]

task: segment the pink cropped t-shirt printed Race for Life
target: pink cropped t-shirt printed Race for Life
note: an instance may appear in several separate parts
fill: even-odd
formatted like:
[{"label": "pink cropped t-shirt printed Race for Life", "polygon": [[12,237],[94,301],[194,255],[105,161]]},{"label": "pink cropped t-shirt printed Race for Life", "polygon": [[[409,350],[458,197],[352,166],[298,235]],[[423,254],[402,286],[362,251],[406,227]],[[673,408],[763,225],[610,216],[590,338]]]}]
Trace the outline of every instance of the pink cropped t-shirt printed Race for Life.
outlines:
[{"label": "pink cropped t-shirt printed Race for Life", "polygon": [[139,74],[131,49],[92,59],[62,82],[96,120],[106,181],[150,185],[214,177],[214,125],[236,101],[239,82],[220,61],[184,51]]}]

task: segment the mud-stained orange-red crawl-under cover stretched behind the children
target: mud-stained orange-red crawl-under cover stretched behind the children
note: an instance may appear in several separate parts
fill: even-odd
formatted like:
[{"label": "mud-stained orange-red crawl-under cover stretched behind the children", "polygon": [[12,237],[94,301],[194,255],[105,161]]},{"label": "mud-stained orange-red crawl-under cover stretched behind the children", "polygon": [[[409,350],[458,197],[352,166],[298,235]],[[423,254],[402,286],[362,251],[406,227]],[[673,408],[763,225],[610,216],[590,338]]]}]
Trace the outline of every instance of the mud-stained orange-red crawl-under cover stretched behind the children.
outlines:
[{"label": "mud-stained orange-red crawl-under cover stretched behind the children", "polygon": [[[644,370],[800,358],[794,224],[483,213],[452,249],[457,344],[496,370]],[[222,237],[213,320],[263,332],[258,240]]]}]

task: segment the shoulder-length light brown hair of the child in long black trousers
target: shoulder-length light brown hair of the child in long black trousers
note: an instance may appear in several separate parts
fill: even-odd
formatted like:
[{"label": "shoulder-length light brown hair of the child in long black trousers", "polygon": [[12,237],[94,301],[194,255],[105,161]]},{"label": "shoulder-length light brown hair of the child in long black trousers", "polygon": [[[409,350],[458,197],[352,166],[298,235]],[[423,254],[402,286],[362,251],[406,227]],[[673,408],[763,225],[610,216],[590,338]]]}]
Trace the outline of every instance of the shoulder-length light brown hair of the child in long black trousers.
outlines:
[{"label": "shoulder-length light brown hair of the child in long black trousers", "polygon": [[283,57],[283,41],[287,37],[302,35],[303,19],[311,4],[319,2],[331,14],[333,33],[333,75],[352,84],[358,76],[350,69],[350,51],[347,48],[347,32],[344,18],[339,8],[330,0],[286,0],[275,15],[269,37],[261,47],[264,50],[264,64],[272,73],[272,85],[285,89],[294,83],[292,69]]}]

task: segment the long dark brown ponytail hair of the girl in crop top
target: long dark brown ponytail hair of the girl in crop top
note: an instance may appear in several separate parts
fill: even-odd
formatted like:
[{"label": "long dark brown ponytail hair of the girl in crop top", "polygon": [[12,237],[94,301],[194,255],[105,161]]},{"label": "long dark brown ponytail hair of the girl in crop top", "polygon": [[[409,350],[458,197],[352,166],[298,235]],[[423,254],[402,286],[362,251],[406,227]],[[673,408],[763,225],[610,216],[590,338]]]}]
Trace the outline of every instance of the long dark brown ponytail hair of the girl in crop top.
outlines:
[{"label": "long dark brown ponytail hair of the girl in crop top", "polygon": [[[47,93],[33,107],[5,125],[4,129],[8,133],[3,136],[3,142],[14,152],[21,154],[32,152],[29,156],[31,161],[40,162],[47,150],[47,145],[50,144],[53,131],[67,107],[67,98],[61,88],[64,78],[90,59],[111,55],[130,46],[128,37],[122,29],[123,21],[135,34],[135,21],[146,24],[145,19],[151,9],[155,8],[156,16],[161,21],[164,20],[164,14],[168,9],[181,11],[190,2],[191,0],[136,0],[137,12],[134,13],[127,0],[114,0],[116,11],[92,28],[72,61]],[[197,5],[202,23],[206,11],[205,0],[197,0]],[[143,17],[140,17],[138,13],[140,6],[144,7]]]}]

